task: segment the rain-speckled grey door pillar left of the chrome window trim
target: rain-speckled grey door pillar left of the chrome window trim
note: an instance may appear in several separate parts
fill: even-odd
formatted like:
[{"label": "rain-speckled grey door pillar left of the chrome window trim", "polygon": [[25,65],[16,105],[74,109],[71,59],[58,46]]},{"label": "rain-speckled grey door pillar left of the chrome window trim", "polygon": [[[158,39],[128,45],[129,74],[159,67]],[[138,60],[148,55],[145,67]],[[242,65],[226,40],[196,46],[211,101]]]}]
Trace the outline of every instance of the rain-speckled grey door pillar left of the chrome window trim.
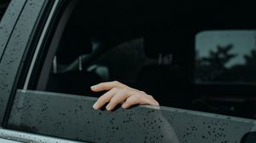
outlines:
[{"label": "rain-speckled grey door pillar left of the chrome window trim", "polygon": [[[15,91],[18,85],[23,83],[21,75],[26,73],[26,68],[31,61],[29,53],[33,53],[34,44],[38,42],[38,35],[44,26],[44,18],[49,14],[48,10],[52,5],[50,2],[49,0],[30,2],[12,0],[3,15],[0,24],[1,27],[4,27],[0,29],[0,37],[4,37],[0,42],[4,48],[1,51],[0,67],[6,69],[0,72],[4,75],[0,77],[0,80],[6,84],[0,90],[3,98],[0,121],[3,128],[9,118]],[[27,13],[32,13],[32,15],[27,16]]]}]

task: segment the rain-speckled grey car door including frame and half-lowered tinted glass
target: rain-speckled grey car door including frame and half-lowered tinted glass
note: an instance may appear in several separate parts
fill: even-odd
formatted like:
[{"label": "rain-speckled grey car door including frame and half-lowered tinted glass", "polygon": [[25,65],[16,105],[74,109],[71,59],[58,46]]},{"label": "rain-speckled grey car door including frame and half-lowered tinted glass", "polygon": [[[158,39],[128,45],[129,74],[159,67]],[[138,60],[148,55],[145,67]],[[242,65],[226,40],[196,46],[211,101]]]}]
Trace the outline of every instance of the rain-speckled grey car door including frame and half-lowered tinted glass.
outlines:
[{"label": "rain-speckled grey car door including frame and half-lowered tinted glass", "polygon": [[[248,133],[256,130],[255,120],[251,119],[165,106],[137,106],[128,110],[119,107],[108,112],[94,110],[93,97],[31,88],[37,70],[43,69],[40,76],[44,79],[51,67],[61,33],[76,3],[13,0],[11,4],[18,2],[20,5],[15,8],[20,8],[20,13],[5,41],[5,32],[0,30],[0,42],[4,42],[0,61],[1,138],[23,142],[192,143],[252,139],[250,135],[247,138]],[[13,23],[8,20],[10,17],[5,14],[1,25]],[[43,25],[38,21],[43,21]]]}]

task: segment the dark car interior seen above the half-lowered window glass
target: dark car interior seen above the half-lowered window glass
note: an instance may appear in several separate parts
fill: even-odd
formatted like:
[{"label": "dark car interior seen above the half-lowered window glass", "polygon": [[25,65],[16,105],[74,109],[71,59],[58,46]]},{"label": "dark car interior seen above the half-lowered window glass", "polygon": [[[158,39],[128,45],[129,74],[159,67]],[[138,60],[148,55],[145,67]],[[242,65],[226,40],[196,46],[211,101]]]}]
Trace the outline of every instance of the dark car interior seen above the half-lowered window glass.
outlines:
[{"label": "dark car interior seen above the half-lowered window glass", "polygon": [[[254,50],[244,56],[252,66],[236,73],[228,68],[218,71],[235,57],[227,54],[233,43],[217,42],[207,51],[212,59],[196,59],[198,50],[204,50],[196,48],[204,31],[210,35],[211,31],[250,31],[252,49],[256,48],[256,16],[253,9],[237,10],[240,6],[221,1],[171,5],[80,0],[67,20],[47,86],[41,90],[99,97],[102,93],[92,93],[91,85],[119,81],[153,95],[160,106],[256,118]],[[213,39],[223,38],[209,36],[205,45],[215,44]]]}]

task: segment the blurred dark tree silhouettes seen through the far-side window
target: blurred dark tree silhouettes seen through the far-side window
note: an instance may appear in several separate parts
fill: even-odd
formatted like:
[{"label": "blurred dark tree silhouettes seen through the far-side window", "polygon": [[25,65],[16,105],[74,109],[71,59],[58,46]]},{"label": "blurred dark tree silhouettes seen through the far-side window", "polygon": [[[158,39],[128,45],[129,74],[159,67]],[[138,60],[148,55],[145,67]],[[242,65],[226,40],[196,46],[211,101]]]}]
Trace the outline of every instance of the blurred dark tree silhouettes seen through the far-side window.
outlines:
[{"label": "blurred dark tree silhouettes seen through the far-side window", "polygon": [[198,57],[195,54],[195,78],[199,82],[255,82],[256,81],[256,50],[253,49],[250,54],[243,55],[245,63],[236,64],[229,68],[226,64],[236,57],[236,54],[230,54],[233,45],[221,47],[217,50],[211,50],[207,57]]}]

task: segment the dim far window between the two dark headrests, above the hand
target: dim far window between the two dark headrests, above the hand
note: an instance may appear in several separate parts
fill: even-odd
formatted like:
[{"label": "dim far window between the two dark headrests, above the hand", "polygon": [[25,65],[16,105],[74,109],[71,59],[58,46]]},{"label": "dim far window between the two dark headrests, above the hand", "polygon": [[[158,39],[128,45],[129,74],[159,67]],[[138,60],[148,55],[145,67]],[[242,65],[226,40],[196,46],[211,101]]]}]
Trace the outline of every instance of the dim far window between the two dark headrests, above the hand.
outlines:
[{"label": "dim far window between the two dark headrests, above the hand", "polygon": [[[116,79],[121,83],[136,83],[143,67],[152,63],[157,63],[157,60],[149,59],[144,53],[144,40],[141,37],[113,46],[93,60],[87,70],[96,72],[104,81]],[[104,67],[106,73],[101,70]]]}]

